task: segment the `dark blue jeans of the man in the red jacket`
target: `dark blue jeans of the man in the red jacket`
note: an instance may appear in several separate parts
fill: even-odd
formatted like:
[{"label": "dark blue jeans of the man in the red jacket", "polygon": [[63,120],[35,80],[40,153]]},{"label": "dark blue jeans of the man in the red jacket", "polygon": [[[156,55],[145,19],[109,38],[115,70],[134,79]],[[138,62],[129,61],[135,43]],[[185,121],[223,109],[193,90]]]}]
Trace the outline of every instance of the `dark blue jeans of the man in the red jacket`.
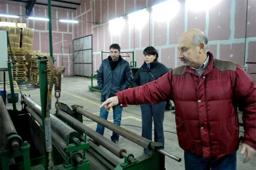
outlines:
[{"label": "dark blue jeans of the man in the red jacket", "polygon": [[236,152],[219,159],[204,159],[184,151],[185,170],[236,170]]}]

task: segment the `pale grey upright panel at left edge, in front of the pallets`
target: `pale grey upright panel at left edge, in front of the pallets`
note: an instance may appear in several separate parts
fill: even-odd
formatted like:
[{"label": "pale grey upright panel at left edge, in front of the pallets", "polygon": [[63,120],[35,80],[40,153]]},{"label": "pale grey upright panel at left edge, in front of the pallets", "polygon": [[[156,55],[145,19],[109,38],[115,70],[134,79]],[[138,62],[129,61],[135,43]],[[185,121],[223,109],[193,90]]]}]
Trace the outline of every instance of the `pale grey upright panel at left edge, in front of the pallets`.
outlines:
[{"label": "pale grey upright panel at left edge, in front of the pallets", "polygon": [[7,70],[7,31],[0,31],[0,71]]}]

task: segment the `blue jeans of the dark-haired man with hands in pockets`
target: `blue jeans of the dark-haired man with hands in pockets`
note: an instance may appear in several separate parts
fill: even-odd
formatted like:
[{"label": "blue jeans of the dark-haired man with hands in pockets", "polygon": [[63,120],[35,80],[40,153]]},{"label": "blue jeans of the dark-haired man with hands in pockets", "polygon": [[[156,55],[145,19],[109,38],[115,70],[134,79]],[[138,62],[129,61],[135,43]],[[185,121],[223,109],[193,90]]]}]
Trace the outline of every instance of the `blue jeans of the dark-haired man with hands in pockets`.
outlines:
[{"label": "blue jeans of the dark-haired man with hands in pockets", "polygon": [[[106,111],[106,109],[104,107],[100,109],[99,117],[107,120],[107,118],[108,118],[108,111]],[[116,106],[113,107],[114,124],[120,126],[121,125],[121,118],[122,118],[122,108],[120,108],[119,105],[116,105]],[[104,129],[105,129],[104,126],[98,124],[96,132],[98,132],[99,134],[101,134],[103,136]],[[119,134],[116,133],[116,132],[113,132],[113,134],[111,136],[111,140],[112,141],[118,141],[118,139],[119,139]]]}]

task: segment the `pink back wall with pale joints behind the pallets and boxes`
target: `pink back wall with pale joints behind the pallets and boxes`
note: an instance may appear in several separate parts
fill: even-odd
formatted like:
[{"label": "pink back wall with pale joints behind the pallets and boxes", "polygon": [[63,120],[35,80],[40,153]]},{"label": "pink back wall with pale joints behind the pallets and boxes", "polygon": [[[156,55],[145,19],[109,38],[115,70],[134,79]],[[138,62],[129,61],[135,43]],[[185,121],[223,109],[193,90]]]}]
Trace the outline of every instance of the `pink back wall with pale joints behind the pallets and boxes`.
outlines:
[{"label": "pink back wall with pale joints behind the pallets and boxes", "polygon": [[[0,14],[26,15],[24,6],[0,3]],[[48,10],[44,8],[33,8],[31,16],[48,17]],[[72,12],[52,10],[52,18],[72,19]],[[49,53],[49,32],[48,21],[29,20],[20,17],[18,23],[26,23],[27,27],[34,28],[33,50],[40,50],[42,53]],[[73,75],[73,62],[68,62],[72,55],[69,55],[68,45],[73,44],[72,24],[60,23],[52,19],[52,44],[53,56],[56,59],[55,66],[64,66],[66,71],[64,75]],[[61,46],[65,48],[61,48]],[[62,63],[63,62],[63,63]]]}]

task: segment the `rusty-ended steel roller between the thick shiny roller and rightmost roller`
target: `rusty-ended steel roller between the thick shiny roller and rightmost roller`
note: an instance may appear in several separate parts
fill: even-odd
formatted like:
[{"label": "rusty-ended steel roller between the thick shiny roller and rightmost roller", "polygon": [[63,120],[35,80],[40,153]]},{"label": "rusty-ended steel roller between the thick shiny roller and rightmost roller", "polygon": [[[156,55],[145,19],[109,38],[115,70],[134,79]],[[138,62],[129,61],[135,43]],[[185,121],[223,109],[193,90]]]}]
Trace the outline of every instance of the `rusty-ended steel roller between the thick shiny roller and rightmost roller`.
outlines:
[{"label": "rusty-ended steel roller between the thick shiny roller and rightmost roller", "polygon": [[95,132],[95,130],[91,129],[90,127],[85,126],[83,123],[79,122],[72,116],[68,115],[64,111],[60,111],[61,118],[65,119],[67,122],[71,123],[74,127],[81,130],[82,132],[87,132],[87,135],[98,142],[100,145],[105,147],[111,153],[116,155],[119,158],[123,158],[122,153],[126,153],[125,149],[119,147],[119,145],[111,142],[109,139],[105,138],[104,136],[100,135],[99,133]]}]

